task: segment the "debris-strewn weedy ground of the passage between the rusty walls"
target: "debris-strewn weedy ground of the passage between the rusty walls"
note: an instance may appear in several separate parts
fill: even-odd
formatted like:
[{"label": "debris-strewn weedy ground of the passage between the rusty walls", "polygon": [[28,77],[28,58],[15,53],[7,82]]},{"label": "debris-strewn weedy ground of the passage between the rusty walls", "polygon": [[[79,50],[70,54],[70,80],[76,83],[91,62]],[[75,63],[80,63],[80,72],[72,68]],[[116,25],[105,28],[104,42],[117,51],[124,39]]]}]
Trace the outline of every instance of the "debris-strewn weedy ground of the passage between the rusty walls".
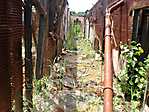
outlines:
[{"label": "debris-strewn weedy ground of the passage between the rusty walls", "polygon": [[[55,111],[61,108],[64,112],[102,112],[99,60],[95,59],[89,40],[75,37],[74,44],[75,49],[63,50],[53,65],[47,97],[51,98]],[[46,103],[39,101],[37,106]]]}]

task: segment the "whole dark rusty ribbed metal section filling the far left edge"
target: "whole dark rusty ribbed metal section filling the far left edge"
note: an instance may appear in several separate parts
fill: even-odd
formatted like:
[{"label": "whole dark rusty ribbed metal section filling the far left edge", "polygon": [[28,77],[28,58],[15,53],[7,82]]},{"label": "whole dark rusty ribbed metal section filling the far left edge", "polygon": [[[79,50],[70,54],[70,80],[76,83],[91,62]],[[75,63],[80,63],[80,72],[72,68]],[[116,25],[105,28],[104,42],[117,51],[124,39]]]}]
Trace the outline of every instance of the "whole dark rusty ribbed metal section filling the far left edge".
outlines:
[{"label": "whole dark rusty ribbed metal section filling the far left edge", "polygon": [[21,0],[0,1],[0,111],[3,112],[10,111],[11,96],[16,102],[22,97],[21,17]]}]

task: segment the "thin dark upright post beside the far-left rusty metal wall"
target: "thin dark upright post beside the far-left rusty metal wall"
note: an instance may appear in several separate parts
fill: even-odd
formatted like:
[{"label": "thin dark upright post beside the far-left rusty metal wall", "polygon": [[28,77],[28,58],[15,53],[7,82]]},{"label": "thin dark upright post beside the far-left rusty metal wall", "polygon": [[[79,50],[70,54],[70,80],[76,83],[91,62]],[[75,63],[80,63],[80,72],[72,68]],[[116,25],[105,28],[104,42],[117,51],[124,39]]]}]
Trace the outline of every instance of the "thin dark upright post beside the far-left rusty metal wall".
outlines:
[{"label": "thin dark upright post beside the far-left rusty metal wall", "polygon": [[27,100],[28,112],[31,112],[32,106],[32,0],[25,0],[24,25],[25,25],[25,97]]}]

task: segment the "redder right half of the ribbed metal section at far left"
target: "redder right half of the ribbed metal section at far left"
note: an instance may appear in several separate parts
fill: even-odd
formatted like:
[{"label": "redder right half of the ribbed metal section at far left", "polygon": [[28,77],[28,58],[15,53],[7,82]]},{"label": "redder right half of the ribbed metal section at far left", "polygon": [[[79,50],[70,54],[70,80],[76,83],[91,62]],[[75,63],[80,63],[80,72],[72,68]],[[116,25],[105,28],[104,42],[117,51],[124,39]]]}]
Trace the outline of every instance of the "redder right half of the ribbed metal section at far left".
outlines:
[{"label": "redder right half of the ribbed metal section at far left", "polygon": [[23,112],[22,1],[11,0],[9,7],[10,16],[8,24],[10,25],[10,28],[12,28],[10,38],[10,74],[12,96],[15,100],[15,110]]}]

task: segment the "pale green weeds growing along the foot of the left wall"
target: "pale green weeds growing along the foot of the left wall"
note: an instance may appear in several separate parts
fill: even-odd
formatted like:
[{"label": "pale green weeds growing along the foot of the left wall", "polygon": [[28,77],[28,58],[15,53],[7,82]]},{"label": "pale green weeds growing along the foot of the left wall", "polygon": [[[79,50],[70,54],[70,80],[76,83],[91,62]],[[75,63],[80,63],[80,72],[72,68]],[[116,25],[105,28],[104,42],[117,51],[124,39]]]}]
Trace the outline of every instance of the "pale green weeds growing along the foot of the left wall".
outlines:
[{"label": "pale green weeds growing along the foot of the left wall", "polygon": [[33,112],[53,112],[57,105],[53,97],[58,90],[63,89],[64,66],[66,64],[67,62],[64,61],[64,63],[57,65],[59,67],[55,72],[58,74],[54,74],[55,76],[45,75],[40,80],[34,80]]}]

